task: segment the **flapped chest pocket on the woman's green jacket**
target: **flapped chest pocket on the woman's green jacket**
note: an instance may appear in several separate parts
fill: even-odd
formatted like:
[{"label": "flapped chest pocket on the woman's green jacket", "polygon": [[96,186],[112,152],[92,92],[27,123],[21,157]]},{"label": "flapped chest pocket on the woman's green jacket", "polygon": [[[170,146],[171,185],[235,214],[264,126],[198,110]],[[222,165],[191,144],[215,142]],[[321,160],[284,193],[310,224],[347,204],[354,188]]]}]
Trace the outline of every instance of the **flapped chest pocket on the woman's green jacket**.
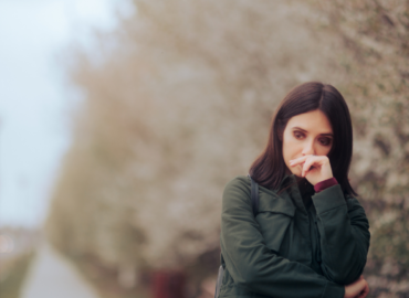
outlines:
[{"label": "flapped chest pocket on the woman's green jacket", "polygon": [[260,225],[266,246],[280,254],[285,235],[294,219],[295,206],[282,198],[265,196],[260,195],[259,214],[255,220]]}]

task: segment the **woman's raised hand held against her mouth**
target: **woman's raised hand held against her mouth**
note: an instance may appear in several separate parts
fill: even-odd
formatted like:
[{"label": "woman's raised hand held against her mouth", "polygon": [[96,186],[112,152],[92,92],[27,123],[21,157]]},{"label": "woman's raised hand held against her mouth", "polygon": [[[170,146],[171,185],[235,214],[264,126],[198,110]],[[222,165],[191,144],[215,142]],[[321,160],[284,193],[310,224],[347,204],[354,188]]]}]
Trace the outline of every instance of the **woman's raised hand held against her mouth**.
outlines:
[{"label": "woman's raised hand held against her mouth", "polygon": [[331,169],[329,159],[327,156],[304,156],[290,160],[290,166],[302,167],[301,177],[305,177],[311,184],[333,178],[333,170]]}]

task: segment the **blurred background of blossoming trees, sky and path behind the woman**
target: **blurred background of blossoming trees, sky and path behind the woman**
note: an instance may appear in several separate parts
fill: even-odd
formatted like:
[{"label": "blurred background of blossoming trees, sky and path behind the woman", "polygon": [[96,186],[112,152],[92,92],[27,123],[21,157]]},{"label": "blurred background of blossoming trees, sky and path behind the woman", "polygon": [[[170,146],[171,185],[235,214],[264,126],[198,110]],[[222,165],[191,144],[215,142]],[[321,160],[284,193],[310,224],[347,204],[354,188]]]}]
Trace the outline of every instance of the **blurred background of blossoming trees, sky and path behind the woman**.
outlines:
[{"label": "blurred background of blossoming trees, sky and path behind the woman", "polygon": [[369,297],[409,297],[408,0],[0,0],[0,297],[210,298],[221,194],[337,87]]}]

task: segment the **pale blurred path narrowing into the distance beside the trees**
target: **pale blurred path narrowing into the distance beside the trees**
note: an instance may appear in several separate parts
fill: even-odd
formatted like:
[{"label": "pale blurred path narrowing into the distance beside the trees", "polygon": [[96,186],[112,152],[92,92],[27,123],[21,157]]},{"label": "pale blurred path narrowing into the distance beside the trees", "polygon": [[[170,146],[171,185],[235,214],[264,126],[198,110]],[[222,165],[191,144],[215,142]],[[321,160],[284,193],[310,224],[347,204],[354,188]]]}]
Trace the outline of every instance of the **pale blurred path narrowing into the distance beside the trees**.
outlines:
[{"label": "pale blurred path narrowing into the distance beside the trees", "polygon": [[76,268],[43,244],[29,270],[21,298],[98,298]]}]

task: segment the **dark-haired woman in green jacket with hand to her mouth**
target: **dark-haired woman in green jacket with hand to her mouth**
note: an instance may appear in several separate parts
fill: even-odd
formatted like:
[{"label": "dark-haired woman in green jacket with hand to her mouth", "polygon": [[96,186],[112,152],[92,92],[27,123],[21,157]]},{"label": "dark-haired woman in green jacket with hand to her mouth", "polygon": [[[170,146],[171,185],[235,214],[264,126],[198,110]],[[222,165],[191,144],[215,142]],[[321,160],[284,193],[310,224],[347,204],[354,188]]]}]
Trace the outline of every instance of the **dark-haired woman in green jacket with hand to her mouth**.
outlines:
[{"label": "dark-haired woman in green jacket with hand to her mouth", "polygon": [[353,129],[332,85],[291,91],[250,168],[259,183],[253,215],[249,177],[224,188],[221,264],[224,297],[360,297],[369,224],[348,181]]}]

